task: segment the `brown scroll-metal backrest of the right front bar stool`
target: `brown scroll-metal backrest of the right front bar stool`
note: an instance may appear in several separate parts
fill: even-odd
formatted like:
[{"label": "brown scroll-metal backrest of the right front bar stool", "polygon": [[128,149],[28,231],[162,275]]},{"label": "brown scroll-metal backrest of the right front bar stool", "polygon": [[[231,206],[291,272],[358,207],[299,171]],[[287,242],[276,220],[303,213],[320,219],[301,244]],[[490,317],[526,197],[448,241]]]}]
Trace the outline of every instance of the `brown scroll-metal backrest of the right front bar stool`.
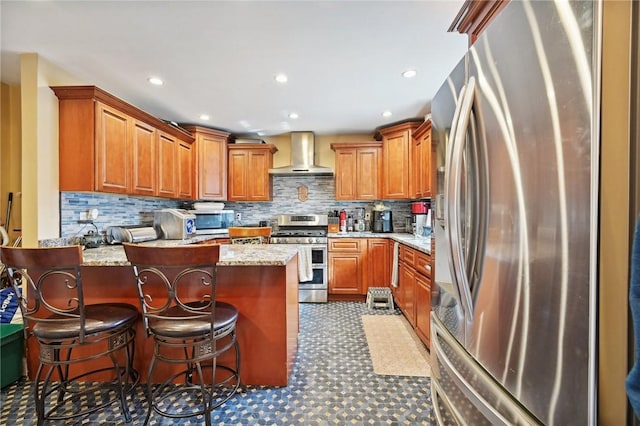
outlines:
[{"label": "brown scroll-metal backrest of the right front bar stool", "polygon": [[218,244],[150,247],[124,244],[133,265],[147,336],[160,321],[208,321],[214,330]]}]

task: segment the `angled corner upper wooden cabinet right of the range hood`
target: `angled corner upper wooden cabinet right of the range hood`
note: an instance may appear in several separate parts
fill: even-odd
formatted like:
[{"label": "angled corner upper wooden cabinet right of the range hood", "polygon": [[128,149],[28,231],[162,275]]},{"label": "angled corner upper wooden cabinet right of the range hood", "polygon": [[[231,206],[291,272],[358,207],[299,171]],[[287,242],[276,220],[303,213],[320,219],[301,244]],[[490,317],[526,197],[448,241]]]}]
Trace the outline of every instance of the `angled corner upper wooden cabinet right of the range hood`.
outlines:
[{"label": "angled corner upper wooden cabinet right of the range hood", "polygon": [[413,198],[410,188],[413,132],[420,122],[405,122],[378,131],[382,137],[382,199]]}]

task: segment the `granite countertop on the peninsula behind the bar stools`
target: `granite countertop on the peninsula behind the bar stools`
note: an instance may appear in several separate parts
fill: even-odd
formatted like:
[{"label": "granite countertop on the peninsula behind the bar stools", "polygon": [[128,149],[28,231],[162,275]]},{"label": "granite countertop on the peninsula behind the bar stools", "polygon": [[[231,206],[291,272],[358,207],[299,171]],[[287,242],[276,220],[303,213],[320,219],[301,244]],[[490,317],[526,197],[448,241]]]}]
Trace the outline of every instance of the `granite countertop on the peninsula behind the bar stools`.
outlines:
[{"label": "granite countertop on the peninsula behind the bar stools", "polygon": [[[198,238],[198,237],[196,237]],[[205,238],[200,241],[207,241]],[[156,240],[140,243],[154,247],[192,244],[189,240]],[[298,253],[295,244],[247,244],[220,245],[219,266],[282,266]],[[83,252],[85,266],[128,266],[130,265],[121,245],[105,245]]]}]

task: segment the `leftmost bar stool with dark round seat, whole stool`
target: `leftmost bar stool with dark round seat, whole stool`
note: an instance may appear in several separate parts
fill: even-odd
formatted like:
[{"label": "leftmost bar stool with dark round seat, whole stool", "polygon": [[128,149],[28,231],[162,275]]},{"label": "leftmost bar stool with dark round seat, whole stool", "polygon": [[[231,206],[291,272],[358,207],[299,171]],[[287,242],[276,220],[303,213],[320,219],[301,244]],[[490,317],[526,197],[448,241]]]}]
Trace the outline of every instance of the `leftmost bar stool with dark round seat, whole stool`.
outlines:
[{"label": "leftmost bar stool with dark round seat, whole stool", "polygon": [[86,304],[80,246],[0,248],[20,301],[25,337],[40,348],[33,383],[38,424],[86,416],[118,402],[127,422],[138,309]]}]

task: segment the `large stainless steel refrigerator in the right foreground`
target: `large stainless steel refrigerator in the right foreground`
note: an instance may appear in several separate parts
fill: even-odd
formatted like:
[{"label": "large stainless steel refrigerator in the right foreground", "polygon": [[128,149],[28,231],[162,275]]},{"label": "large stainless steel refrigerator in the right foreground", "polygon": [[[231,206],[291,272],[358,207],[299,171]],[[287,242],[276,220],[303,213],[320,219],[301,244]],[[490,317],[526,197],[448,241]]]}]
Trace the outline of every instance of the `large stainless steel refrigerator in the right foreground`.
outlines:
[{"label": "large stainless steel refrigerator in the right foreground", "polygon": [[433,99],[440,424],[595,424],[599,14],[511,1]]}]

